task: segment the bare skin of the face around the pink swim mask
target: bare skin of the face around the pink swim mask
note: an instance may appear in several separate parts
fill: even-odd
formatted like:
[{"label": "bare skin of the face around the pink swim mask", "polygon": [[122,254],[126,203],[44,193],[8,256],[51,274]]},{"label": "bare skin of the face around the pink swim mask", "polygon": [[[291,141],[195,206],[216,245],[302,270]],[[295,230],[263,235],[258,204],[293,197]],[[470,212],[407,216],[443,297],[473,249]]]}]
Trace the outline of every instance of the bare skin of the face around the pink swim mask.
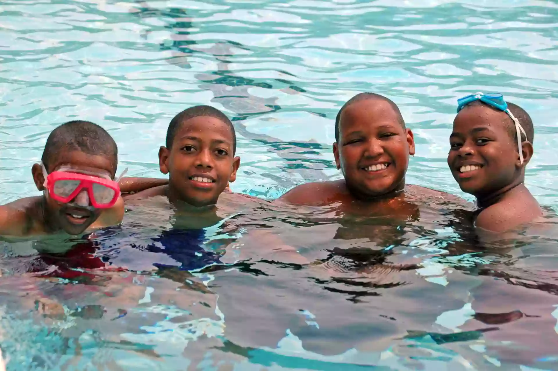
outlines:
[{"label": "bare skin of the face around the pink swim mask", "polygon": [[[79,174],[98,176],[112,179],[116,169],[113,160],[104,156],[92,156],[80,151],[61,150],[56,158],[49,161],[46,169],[48,174],[53,171],[75,172]],[[39,164],[33,165],[33,179],[37,189],[45,191],[46,210],[45,219],[54,229],[62,229],[68,234],[83,233],[97,220],[102,209],[92,206],[88,192],[84,189],[70,200],[69,203],[59,203],[52,199],[44,187],[45,177]]]}]

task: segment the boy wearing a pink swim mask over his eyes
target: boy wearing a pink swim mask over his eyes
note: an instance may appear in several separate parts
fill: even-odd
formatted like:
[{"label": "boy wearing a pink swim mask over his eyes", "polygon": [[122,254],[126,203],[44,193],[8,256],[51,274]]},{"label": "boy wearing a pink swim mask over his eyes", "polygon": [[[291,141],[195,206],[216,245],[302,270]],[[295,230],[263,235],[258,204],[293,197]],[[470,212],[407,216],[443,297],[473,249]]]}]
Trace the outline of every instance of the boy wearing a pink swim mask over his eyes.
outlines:
[{"label": "boy wearing a pink swim mask over his eyes", "polygon": [[33,180],[43,195],[0,206],[0,235],[62,231],[79,235],[120,223],[124,203],[113,180],[117,156],[113,138],[97,124],[70,121],[54,129],[42,164],[32,167]]}]

